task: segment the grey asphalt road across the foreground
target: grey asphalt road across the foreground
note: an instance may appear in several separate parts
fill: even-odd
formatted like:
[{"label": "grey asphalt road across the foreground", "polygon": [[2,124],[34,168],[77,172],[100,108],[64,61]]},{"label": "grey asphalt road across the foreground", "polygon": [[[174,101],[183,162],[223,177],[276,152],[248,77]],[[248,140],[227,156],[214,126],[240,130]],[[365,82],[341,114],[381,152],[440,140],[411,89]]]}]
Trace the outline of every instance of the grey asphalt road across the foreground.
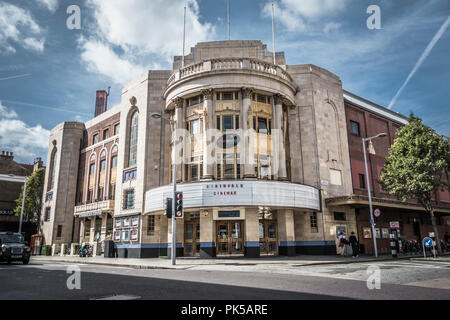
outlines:
[{"label": "grey asphalt road across the foreground", "polygon": [[[304,300],[450,299],[450,263],[378,262],[349,265],[197,267],[143,270],[75,265],[81,289],[69,290],[68,264],[0,264],[0,300]],[[367,287],[367,268],[380,270],[380,289]],[[209,268],[209,269],[208,269]]]}]

